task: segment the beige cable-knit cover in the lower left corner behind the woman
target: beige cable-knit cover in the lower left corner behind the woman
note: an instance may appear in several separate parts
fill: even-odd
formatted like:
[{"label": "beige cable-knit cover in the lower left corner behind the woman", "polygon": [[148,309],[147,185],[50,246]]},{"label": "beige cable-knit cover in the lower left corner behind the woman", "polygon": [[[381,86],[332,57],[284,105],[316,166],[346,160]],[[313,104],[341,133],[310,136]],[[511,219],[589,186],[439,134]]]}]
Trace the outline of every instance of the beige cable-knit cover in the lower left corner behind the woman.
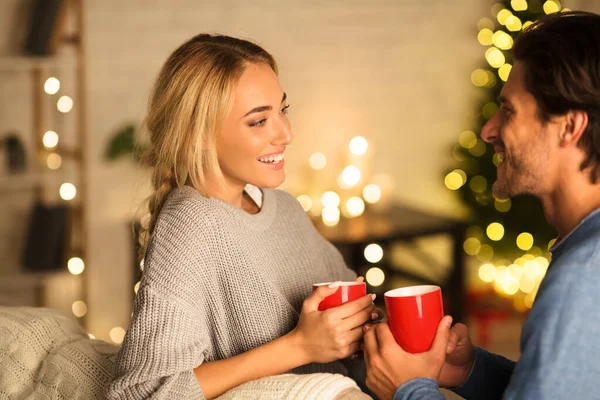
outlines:
[{"label": "beige cable-knit cover in the lower left corner behind the woman", "polygon": [[117,350],[72,315],[0,307],[0,399],[104,399]]}]

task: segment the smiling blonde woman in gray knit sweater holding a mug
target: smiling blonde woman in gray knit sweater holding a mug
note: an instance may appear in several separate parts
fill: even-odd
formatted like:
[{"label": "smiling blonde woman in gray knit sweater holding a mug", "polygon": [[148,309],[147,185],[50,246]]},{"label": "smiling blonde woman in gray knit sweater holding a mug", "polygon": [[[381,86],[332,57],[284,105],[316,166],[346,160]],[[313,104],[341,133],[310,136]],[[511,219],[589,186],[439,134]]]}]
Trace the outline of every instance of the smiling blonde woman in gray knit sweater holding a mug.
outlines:
[{"label": "smiling blonde woman in gray knit sweater holding a mug", "polygon": [[[367,295],[319,312],[354,280],[300,204],[275,190],[293,141],[273,57],[198,35],[160,71],[149,102],[154,193],[145,268],[111,399],[214,398],[292,371],[348,374],[375,317]],[[145,247],[147,244],[147,249]]]}]

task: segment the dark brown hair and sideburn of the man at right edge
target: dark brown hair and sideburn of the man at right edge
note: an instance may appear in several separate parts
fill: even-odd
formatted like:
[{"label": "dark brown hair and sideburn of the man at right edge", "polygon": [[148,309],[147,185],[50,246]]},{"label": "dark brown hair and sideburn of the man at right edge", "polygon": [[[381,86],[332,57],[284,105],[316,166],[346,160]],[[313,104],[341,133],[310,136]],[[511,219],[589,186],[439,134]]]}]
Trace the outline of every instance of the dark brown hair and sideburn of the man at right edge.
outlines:
[{"label": "dark brown hair and sideburn of the man at right edge", "polygon": [[600,179],[600,15],[552,14],[527,27],[514,47],[525,66],[525,87],[548,122],[569,110],[585,111],[588,126],[579,140],[592,182]]}]

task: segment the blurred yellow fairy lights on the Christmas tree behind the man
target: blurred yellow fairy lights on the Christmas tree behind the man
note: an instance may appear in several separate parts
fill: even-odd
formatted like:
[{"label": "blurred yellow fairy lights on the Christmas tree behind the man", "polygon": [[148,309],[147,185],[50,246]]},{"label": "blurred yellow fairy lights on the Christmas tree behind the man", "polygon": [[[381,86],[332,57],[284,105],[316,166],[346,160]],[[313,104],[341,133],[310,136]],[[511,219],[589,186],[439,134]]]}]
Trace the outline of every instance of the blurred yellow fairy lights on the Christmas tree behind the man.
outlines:
[{"label": "blurred yellow fairy lights on the Christmas tree behind the man", "polygon": [[[506,2],[508,3],[508,2]],[[518,33],[531,25],[532,21],[522,21],[514,13],[527,11],[531,6],[527,0],[510,1],[510,9],[504,4],[495,4],[492,7],[492,15],[500,24],[496,29],[494,21],[489,18],[482,18],[478,24],[477,40],[486,47],[484,56],[489,64],[488,68],[479,68],[471,74],[471,82],[476,87],[491,89],[499,83],[498,79],[506,82],[512,65],[506,61],[504,51],[513,47],[514,40],[510,33]],[[542,9],[545,14],[552,14],[560,11],[568,11],[562,8],[556,0],[543,2]],[[495,101],[486,103],[481,113],[487,120],[498,111],[498,104]],[[486,152],[486,144],[473,131],[464,131],[458,138],[459,146],[462,150],[467,150],[473,157],[482,157]],[[460,150],[460,148],[458,148]],[[462,151],[460,150],[460,151]],[[455,148],[454,158],[462,161],[460,151]],[[498,166],[500,160],[497,154],[493,156],[493,163]],[[483,194],[489,190],[487,179],[482,175],[475,175],[469,178],[467,172],[462,169],[455,169],[449,172],[444,178],[445,186],[453,191],[457,191],[464,185],[473,192],[475,196]],[[511,209],[510,200],[493,199],[494,208],[499,213],[506,213]],[[540,282],[544,277],[549,265],[549,249],[555,242],[551,240],[547,248],[542,249],[534,246],[536,241],[529,232],[522,232],[516,237],[516,247],[521,251],[521,255],[512,260],[494,259],[495,249],[486,242],[498,242],[505,235],[505,227],[501,222],[491,222],[485,227],[472,226],[467,231],[467,239],[464,242],[464,251],[475,256],[480,262],[477,274],[481,281],[491,285],[493,290],[501,296],[512,298],[514,308],[517,311],[526,311],[531,308],[537,294]],[[546,246],[544,246],[546,247]]]}]

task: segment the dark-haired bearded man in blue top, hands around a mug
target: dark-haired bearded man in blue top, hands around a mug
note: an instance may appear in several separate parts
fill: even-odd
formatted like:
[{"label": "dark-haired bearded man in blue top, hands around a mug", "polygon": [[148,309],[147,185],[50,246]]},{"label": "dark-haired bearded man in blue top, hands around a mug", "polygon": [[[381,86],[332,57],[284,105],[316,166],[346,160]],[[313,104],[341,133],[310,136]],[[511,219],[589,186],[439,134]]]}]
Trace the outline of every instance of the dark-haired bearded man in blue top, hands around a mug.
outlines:
[{"label": "dark-haired bearded man in blue top, hands around a mug", "polygon": [[[497,198],[538,197],[558,231],[523,327],[518,363],[440,322],[431,349],[409,354],[386,323],[365,326],[367,385],[380,399],[584,399],[600,377],[600,16],[569,12],[518,38],[501,108],[481,137],[502,159]],[[597,395],[596,395],[597,396]]]}]

